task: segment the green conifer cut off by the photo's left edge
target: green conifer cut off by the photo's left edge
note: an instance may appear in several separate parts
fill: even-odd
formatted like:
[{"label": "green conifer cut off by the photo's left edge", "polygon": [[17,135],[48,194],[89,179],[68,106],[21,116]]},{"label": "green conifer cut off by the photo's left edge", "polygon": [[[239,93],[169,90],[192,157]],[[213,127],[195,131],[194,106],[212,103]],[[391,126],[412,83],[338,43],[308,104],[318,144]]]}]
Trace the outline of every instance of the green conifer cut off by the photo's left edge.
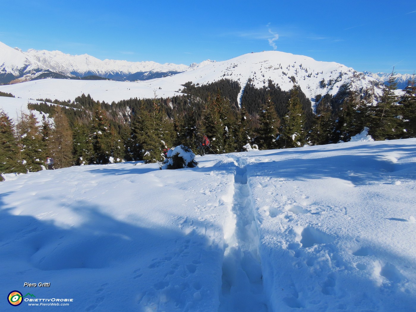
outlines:
[{"label": "green conifer cut off by the photo's left edge", "polygon": [[22,162],[19,161],[19,148],[15,138],[12,120],[0,110],[0,181],[3,181],[1,173],[26,172]]}]

